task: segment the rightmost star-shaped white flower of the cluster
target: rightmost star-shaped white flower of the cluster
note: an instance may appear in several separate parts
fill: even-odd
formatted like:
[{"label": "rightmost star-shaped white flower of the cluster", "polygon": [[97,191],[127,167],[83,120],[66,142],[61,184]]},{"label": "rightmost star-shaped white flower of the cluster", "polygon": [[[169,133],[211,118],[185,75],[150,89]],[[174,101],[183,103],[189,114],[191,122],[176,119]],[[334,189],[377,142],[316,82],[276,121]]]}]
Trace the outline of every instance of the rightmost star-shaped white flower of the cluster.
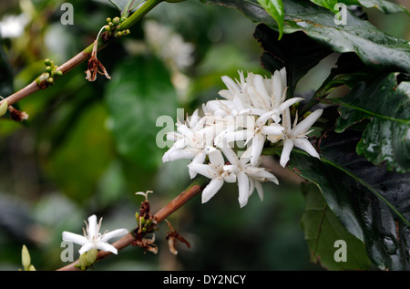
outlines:
[{"label": "rightmost star-shaped white flower of the cluster", "polygon": [[300,123],[297,123],[297,116],[293,123],[293,129],[291,127],[291,113],[289,108],[283,111],[282,125],[284,127],[284,139],[283,149],[281,154],[280,163],[284,168],[286,163],[290,159],[293,146],[301,150],[306,151],[315,158],[320,158],[317,151],[313,148],[311,142],[307,139],[307,135],[312,131],[308,131],[313,124],[322,116],[323,109],[316,109],[306,119],[303,119]]}]

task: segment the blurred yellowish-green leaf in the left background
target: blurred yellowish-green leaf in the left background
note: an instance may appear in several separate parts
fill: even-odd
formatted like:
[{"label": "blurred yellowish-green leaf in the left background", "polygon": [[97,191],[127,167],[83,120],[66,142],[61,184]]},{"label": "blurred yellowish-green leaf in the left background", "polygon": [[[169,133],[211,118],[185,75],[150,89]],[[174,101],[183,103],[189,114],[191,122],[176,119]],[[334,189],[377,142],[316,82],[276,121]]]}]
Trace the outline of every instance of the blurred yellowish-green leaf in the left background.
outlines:
[{"label": "blurred yellowish-green leaf in the left background", "polygon": [[113,157],[112,139],[105,129],[107,111],[101,104],[78,116],[67,139],[46,161],[46,172],[77,202],[87,201]]}]

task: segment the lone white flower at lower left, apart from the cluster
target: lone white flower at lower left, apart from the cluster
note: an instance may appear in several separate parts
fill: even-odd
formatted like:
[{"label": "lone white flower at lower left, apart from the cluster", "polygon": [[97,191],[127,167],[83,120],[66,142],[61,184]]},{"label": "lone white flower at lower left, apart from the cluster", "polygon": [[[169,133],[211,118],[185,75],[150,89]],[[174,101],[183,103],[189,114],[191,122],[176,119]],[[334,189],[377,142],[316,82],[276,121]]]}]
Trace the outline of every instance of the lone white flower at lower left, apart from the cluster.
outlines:
[{"label": "lone white flower at lower left, apart from the cluster", "polygon": [[118,253],[116,247],[110,245],[108,240],[116,237],[121,237],[128,233],[127,229],[118,229],[112,232],[104,232],[101,234],[99,229],[101,228],[102,218],[99,219],[97,223],[97,216],[92,215],[88,218],[88,223],[86,222],[86,230],[83,228],[84,236],[73,232],[63,232],[63,241],[68,241],[72,243],[77,243],[81,245],[79,253],[86,253],[91,249],[98,249],[102,251],[107,251],[111,253]]}]

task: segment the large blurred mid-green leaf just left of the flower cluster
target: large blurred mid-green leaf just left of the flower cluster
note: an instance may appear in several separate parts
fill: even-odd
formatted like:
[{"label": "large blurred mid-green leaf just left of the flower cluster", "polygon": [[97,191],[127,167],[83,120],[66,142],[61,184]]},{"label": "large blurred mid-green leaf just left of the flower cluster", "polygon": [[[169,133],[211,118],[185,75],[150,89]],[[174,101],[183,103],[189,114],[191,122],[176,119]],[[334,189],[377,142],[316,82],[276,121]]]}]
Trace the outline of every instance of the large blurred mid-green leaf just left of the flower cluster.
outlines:
[{"label": "large blurred mid-green leaf just left of the flower cluster", "polygon": [[175,119],[177,112],[169,71],[155,57],[121,61],[112,72],[105,100],[119,154],[145,170],[156,170],[164,153],[156,143],[161,130],[157,119]]}]

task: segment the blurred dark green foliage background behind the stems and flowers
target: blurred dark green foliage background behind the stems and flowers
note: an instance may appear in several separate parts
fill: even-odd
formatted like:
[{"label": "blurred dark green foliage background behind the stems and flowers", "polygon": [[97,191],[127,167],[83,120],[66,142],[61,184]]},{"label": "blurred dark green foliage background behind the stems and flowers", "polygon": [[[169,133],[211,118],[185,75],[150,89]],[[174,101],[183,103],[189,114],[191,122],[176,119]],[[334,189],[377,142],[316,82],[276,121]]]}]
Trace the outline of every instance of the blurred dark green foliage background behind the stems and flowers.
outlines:
[{"label": "blurred dark green foliage background behind the stems and flowers", "polygon": [[[26,15],[23,34],[2,39],[3,97],[41,74],[46,57],[61,64],[75,56],[92,43],[108,16],[118,15],[108,1],[69,1],[74,25],[63,26],[64,2],[1,2],[0,21],[7,15]],[[366,12],[375,26],[410,40],[408,16]],[[148,36],[147,31],[155,31],[149,23],[156,25],[151,29],[167,27],[190,43],[192,51],[187,48],[188,55],[179,55],[186,60],[184,67],[164,56],[171,47],[155,43],[159,31]],[[53,87],[15,106],[29,114],[26,122],[1,119],[0,270],[22,267],[23,244],[37,270],[62,267],[67,263],[60,260],[61,232],[81,233],[83,220],[93,213],[104,217],[103,231],[131,230],[142,201],[136,191],[154,191],[149,195],[153,212],[183,191],[190,184],[187,161],[161,162],[166,149],[155,144],[163,129],[157,118],[176,119],[177,108],[190,114],[217,98],[224,88],[223,75],[237,77],[238,70],[266,74],[260,65],[261,47],[252,36],[255,26],[219,5],[194,0],[161,4],[132,27],[130,35],[98,53],[111,80],[98,75],[95,82],[87,82],[83,63]],[[318,88],[335,59],[327,57],[303,77],[297,92]],[[322,270],[310,262],[300,228],[301,180],[278,169],[277,160],[264,164],[278,176],[280,186],[265,183],[263,201],[254,193],[240,209],[236,184],[225,184],[208,203],[201,204],[197,196],[169,217],[190,249],[179,243],[179,254],[169,253],[164,223],[156,233],[157,255],[129,246],[95,269]]]}]

